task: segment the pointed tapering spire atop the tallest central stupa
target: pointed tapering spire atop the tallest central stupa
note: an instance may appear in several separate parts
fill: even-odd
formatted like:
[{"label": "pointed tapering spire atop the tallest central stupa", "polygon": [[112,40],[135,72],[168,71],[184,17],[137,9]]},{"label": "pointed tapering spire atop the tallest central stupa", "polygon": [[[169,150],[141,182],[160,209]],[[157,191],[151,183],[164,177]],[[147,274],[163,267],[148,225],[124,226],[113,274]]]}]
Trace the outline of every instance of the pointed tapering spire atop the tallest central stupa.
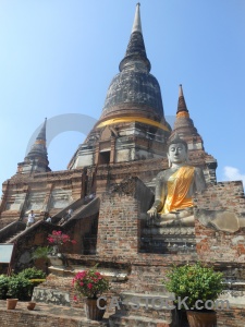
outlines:
[{"label": "pointed tapering spire atop the tallest central stupa", "polygon": [[146,56],[145,43],[142,34],[142,22],[139,3],[136,4],[135,19],[126,53],[119,65],[120,72],[123,70],[138,70],[149,73],[150,62]]}]

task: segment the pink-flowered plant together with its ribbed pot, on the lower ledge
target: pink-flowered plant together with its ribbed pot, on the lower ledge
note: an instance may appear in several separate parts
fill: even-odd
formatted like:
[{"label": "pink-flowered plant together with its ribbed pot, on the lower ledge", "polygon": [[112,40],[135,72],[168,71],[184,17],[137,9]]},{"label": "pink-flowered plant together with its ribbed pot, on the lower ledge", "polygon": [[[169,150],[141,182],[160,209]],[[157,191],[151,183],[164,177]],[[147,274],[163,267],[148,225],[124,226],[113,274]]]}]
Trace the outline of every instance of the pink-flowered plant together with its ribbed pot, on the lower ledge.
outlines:
[{"label": "pink-flowered plant together with its ribbed pot, on the lower ledge", "polygon": [[[110,289],[110,284],[107,278],[105,278],[99,271],[96,270],[97,265],[88,270],[79,271],[73,278],[72,284],[75,293],[78,298],[86,298],[85,312],[88,319],[101,320],[106,310],[106,300],[100,299],[97,302],[99,295]],[[77,296],[74,300],[77,301]]]}]

